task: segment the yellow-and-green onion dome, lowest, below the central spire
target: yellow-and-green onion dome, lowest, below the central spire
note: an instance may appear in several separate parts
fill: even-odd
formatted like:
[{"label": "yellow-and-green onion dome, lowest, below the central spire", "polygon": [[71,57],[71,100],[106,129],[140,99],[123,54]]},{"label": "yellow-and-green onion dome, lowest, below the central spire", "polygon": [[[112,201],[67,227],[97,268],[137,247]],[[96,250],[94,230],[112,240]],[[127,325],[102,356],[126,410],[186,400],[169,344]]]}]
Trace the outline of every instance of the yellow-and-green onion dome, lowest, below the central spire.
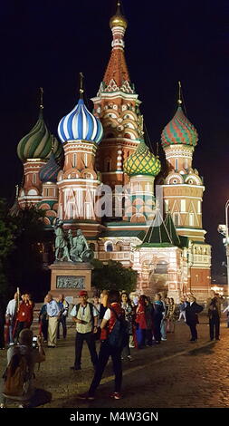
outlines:
[{"label": "yellow-and-green onion dome, lowest, below the central spire", "polygon": [[129,176],[148,175],[157,176],[161,169],[160,160],[155,157],[142,140],[134,154],[131,154],[123,165],[124,172]]}]

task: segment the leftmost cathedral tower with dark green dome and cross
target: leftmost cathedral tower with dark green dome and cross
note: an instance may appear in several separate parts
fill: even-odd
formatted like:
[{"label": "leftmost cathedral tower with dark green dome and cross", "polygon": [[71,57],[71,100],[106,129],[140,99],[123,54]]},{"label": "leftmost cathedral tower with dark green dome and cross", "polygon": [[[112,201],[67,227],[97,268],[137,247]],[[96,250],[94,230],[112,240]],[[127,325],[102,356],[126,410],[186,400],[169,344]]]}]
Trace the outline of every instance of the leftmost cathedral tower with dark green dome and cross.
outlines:
[{"label": "leftmost cathedral tower with dark green dome and cross", "polygon": [[[49,160],[52,152],[52,136],[43,121],[43,89],[38,121],[33,129],[24,136],[17,146],[17,155],[24,163],[24,184],[19,189],[18,203],[20,208],[36,205],[42,200],[42,182],[39,172]],[[53,140],[53,155],[56,160],[62,159],[62,144]]]}]

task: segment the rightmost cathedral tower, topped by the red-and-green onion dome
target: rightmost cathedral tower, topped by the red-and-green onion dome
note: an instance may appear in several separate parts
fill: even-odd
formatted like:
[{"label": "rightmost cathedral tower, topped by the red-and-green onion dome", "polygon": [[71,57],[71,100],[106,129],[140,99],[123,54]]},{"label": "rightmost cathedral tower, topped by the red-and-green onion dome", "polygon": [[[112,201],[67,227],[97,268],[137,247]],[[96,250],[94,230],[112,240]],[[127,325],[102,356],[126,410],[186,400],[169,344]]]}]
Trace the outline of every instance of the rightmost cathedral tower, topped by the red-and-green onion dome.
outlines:
[{"label": "rightmost cathedral tower, topped by the red-and-green onion dome", "polygon": [[211,275],[211,247],[205,243],[202,226],[205,186],[192,165],[198,135],[182,110],[180,83],[177,112],[162,131],[161,140],[168,166],[163,184],[165,210],[171,212],[179,237],[186,237],[188,291],[203,299]]}]

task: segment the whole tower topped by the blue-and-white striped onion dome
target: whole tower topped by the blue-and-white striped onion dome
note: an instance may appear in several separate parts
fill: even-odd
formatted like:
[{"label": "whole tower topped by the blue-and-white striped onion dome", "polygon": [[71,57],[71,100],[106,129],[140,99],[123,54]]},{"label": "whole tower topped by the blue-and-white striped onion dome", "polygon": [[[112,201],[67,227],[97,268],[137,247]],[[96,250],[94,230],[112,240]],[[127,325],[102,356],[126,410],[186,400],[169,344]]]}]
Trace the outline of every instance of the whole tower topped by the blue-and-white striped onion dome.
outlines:
[{"label": "whole tower topped by the blue-and-white striped onion dome", "polygon": [[95,155],[102,131],[100,120],[83,102],[81,74],[80,100],[58,126],[64,150],[64,166],[57,179],[58,217],[65,227],[81,228],[92,237],[99,232],[94,207],[100,176],[95,169]]}]

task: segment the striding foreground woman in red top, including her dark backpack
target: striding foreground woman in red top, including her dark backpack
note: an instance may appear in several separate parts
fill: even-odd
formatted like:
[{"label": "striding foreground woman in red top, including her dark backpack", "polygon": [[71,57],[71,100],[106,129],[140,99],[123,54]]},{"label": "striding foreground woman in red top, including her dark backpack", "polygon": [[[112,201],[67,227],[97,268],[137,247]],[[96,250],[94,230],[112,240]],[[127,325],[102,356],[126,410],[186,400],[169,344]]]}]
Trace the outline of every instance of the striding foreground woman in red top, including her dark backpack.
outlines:
[{"label": "striding foreground woman in red top, including her dark backpack", "polygon": [[78,394],[81,400],[93,401],[95,391],[98,388],[102,374],[111,356],[113,370],[115,374],[114,392],[110,398],[119,400],[121,398],[122,365],[121,352],[128,342],[128,324],[125,321],[125,312],[120,305],[120,295],[118,290],[110,290],[108,296],[108,309],[105,312],[100,324],[100,353],[94,377],[88,392]]}]

